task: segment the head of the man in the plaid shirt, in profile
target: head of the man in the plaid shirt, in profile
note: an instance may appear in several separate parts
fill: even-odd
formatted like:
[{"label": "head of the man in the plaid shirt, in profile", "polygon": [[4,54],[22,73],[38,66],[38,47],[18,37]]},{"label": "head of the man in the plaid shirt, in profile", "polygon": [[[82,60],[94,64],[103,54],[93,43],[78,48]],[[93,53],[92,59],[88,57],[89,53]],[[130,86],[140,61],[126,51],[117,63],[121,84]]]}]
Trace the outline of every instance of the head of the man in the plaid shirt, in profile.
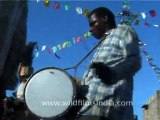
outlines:
[{"label": "head of the man in the plaid shirt, in profile", "polygon": [[88,15],[90,32],[92,35],[101,39],[105,32],[116,27],[114,14],[105,7],[94,9]]}]

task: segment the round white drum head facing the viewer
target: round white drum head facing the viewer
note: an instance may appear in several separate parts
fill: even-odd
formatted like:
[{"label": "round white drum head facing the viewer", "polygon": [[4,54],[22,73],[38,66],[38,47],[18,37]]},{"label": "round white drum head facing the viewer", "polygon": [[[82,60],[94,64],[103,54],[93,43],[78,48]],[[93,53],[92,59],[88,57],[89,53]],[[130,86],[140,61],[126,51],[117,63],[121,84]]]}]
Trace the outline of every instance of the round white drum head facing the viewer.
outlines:
[{"label": "round white drum head facing the viewer", "polygon": [[41,118],[53,118],[67,112],[75,93],[75,84],[66,72],[45,68],[29,78],[24,98],[33,114]]}]

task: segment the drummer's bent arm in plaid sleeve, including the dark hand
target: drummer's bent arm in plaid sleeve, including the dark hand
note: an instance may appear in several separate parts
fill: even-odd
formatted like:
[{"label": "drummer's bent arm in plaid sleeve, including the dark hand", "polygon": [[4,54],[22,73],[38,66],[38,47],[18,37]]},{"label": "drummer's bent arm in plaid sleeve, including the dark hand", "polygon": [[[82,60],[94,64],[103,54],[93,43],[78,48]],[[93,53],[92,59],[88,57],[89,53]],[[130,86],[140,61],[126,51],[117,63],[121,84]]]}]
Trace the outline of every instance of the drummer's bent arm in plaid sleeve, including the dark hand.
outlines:
[{"label": "drummer's bent arm in plaid sleeve, including the dark hand", "polygon": [[102,62],[92,63],[98,77],[106,84],[113,84],[121,79],[132,77],[141,68],[141,57],[138,37],[132,28],[126,26],[120,45],[123,48],[123,59],[113,66]]}]

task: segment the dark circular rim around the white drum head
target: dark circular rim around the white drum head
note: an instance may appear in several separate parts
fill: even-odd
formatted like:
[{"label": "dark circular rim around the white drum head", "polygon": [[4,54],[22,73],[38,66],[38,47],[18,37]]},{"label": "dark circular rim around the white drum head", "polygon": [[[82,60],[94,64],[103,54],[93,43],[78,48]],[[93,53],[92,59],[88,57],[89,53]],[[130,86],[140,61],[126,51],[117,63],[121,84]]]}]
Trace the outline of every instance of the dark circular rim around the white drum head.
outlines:
[{"label": "dark circular rim around the white drum head", "polygon": [[39,115],[36,115],[35,113],[33,113],[33,112],[28,108],[28,106],[27,106],[27,104],[26,104],[25,91],[26,91],[27,84],[29,83],[29,81],[31,80],[31,78],[32,78],[35,74],[37,74],[37,73],[39,73],[39,72],[41,72],[41,71],[43,71],[43,70],[46,70],[46,69],[57,69],[57,70],[60,70],[60,71],[62,71],[63,73],[65,73],[65,74],[70,78],[71,83],[72,83],[72,86],[73,86],[73,89],[74,89],[74,91],[73,91],[73,96],[72,96],[72,102],[76,99],[76,83],[74,82],[73,77],[72,77],[70,74],[68,74],[68,73],[67,73],[65,70],[63,70],[63,69],[60,69],[60,68],[57,68],[57,67],[46,67],[46,68],[42,68],[42,69],[36,71],[35,73],[33,73],[33,74],[27,79],[27,82],[26,82],[26,85],[25,85],[25,88],[24,88],[24,94],[23,94],[23,95],[24,95],[25,106],[26,106],[27,109],[28,109],[33,115],[35,115],[36,117],[39,117],[39,118],[42,118],[42,119],[45,119],[45,118],[47,118],[47,119],[59,118],[59,117],[65,115],[65,114],[67,113],[67,111],[70,110],[71,106],[68,106],[68,108],[67,108],[63,113],[61,113],[61,114],[59,114],[59,115],[56,115],[56,116],[53,116],[53,117],[42,117],[42,116],[39,116]]}]

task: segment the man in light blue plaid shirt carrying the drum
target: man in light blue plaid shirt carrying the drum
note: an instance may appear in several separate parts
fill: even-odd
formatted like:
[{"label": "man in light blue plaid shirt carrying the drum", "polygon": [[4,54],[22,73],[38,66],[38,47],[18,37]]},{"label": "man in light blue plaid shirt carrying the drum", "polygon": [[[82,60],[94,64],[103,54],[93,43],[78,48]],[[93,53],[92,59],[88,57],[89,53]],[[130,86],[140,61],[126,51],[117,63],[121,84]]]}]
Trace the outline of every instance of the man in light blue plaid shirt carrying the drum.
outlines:
[{"label": "man in light blue plaid shirt carrying the drum", "polygon": [[138,36],[131,26],[116,26],[105,7],[91,11],[88,21],[101,43],[82,80],[89,88],[78,120],[133,120],[133,77],[141,68]]}]

